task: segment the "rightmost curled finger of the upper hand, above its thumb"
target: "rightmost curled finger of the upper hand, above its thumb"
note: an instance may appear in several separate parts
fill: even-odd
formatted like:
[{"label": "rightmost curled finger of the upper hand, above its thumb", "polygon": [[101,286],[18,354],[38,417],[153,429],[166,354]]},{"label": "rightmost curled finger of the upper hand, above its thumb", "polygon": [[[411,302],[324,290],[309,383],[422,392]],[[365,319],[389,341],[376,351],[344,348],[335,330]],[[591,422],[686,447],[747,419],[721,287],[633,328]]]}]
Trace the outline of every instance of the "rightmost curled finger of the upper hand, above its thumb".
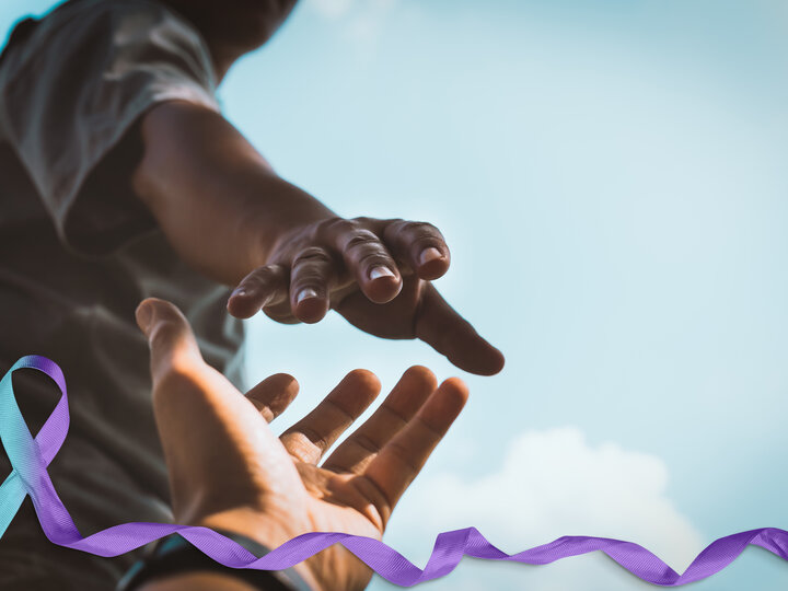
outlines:
[{"label": "rightmost curled finger of the upper hand, above its thumb", "polygon": [[421,279],[431,281],[449,270],[449,246],[431,223],[394,220],[383,231],[383,239],[394,256],[407,262]]}]

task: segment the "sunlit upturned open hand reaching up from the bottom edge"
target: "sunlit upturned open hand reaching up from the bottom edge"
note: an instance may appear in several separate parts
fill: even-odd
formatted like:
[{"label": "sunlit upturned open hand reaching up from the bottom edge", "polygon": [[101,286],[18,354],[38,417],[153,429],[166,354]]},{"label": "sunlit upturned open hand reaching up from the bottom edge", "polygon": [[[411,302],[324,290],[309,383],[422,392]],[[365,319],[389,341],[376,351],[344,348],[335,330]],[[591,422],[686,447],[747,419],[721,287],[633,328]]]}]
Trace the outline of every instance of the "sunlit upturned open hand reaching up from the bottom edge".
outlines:
[{"label": "sunlit upturned open hand reaching up from the bottom edge", "polygon": [[[174,305],[146,300],[137,322],[151,349],[153,409],[176,521],[233,530],[269,547],[313,531],[381,538],[399,497],[467,398],[460,380],[437,387],[429,370],[412,368],[318,465],[379,394],[374,374],[350,372],[277,439],[267,422],[294,398],[293,378],[273,375],[244,396],[205,363]],[[326,591],[363,589],[371,577],[341,546],[299,569]]]}]

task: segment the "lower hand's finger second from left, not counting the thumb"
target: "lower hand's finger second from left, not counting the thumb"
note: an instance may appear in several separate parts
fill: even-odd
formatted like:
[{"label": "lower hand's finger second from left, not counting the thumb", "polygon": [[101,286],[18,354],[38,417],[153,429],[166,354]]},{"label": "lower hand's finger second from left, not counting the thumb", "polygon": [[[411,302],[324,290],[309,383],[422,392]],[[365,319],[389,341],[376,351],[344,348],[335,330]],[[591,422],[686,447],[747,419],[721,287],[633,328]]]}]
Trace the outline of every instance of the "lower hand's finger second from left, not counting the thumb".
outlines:
[{"label": "lower hand's finger second from left, not counting the thumb", "polygon": [[351,371],[314,410],[285,431],[285,449],[301,462],[316,464],[379,393],[374,373]]}]

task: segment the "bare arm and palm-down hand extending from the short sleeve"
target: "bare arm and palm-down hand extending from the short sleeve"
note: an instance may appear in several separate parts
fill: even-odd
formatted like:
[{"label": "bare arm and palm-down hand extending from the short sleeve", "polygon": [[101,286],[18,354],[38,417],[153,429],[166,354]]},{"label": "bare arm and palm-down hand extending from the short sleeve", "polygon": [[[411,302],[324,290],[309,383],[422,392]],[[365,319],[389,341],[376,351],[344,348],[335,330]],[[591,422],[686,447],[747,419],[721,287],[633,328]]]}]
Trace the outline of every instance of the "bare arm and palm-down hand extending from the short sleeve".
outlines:
[{"label": "bare arm and palm-down hand extending from the short sleeve", "polygon": [[432,224],[337,217],[207,107],[163,103],[141,135],[135,192],[184,260],[237,286],[234,316],[313,323],[334,309],[372,335],[420,338],[465,371],[503,367],[432,286],[450,264]]}]

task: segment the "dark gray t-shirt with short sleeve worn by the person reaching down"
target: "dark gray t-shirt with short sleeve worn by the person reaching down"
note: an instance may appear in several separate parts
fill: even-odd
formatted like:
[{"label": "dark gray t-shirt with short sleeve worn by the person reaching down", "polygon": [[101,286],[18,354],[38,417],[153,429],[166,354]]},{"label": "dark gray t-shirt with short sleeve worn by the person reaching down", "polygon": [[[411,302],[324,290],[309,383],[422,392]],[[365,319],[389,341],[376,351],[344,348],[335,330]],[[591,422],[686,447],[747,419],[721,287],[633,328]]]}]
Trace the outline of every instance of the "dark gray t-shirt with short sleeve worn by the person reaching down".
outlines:
[{"label": "dark gray t-shirt with short sleeve worn by the person reaching down", "polygon": [[[206,360],[240,387],[243,332],[227,313],[228,288],[176,256],[129,175],[136,124],[151,106],[219,108],[208,49],[188,22],[148,0],[78,0],[23,28],[0,61],[0,374],[24,355],[62,368],[71,426],[49,473],[83,535],[169,521],[135,308],[150,296],[178,305]],[[57,389],[23,371],[14,390],[37,429]],[[2,477],[10,466],[0,455]],[[57,548],[31,507],[0,540],[0,589],[58,578],[107,589],[131,560]]]}]

